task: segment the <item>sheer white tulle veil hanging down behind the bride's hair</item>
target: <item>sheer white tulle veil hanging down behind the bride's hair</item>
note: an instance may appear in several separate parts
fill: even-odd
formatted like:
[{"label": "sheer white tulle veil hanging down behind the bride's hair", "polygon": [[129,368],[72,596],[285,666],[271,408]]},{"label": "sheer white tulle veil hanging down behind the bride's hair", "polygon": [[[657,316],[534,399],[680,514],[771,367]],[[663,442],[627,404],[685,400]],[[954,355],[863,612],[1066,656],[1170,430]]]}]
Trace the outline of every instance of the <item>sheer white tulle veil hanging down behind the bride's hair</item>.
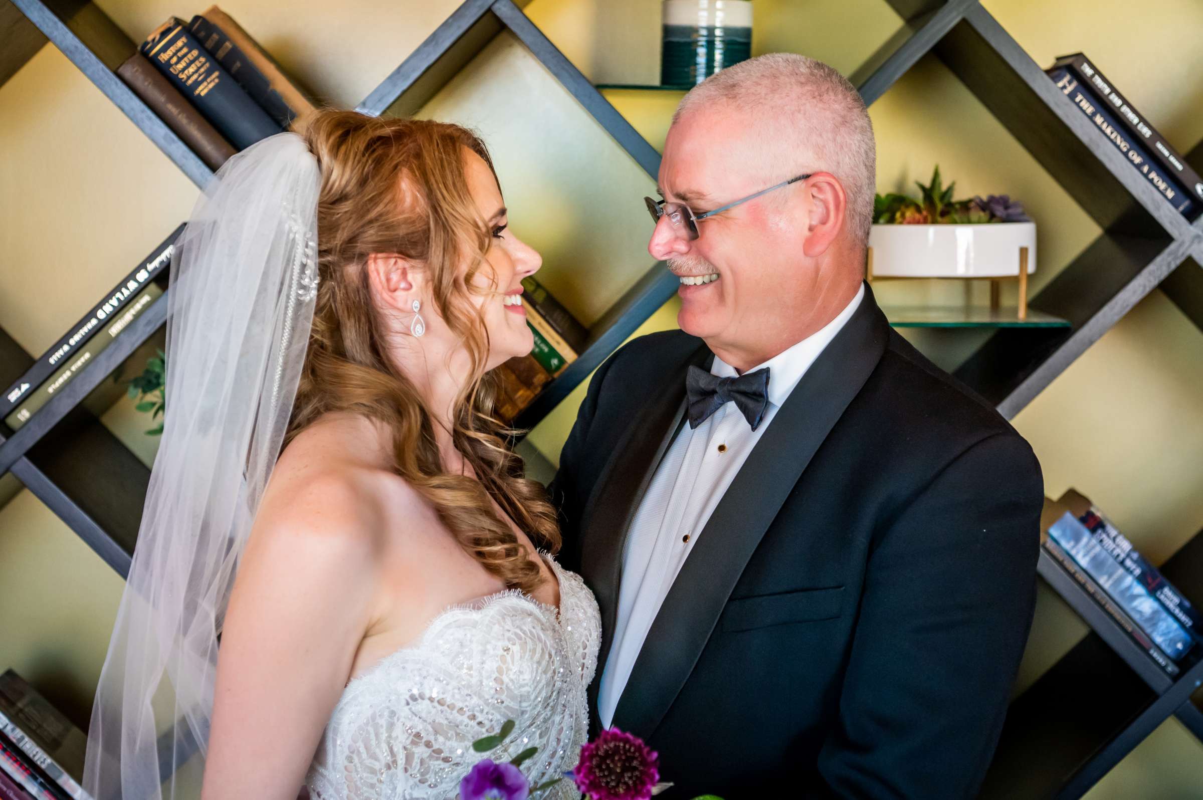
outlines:
[{"label": "sheer white tulle veil hanging down behind the bride's hair", "polygon": [[313,322],[319,186],[304,141],[271,136],[176,243],[162,440],[88,731],[95,800],[198,796],[217,636]]}]

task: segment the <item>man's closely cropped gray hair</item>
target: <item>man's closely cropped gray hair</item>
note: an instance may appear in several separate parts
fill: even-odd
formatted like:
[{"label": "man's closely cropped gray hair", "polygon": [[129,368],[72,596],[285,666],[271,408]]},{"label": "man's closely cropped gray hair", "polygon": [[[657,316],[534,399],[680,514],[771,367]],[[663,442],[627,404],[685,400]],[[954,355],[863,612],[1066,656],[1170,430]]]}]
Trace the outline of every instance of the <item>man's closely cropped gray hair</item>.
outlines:
[{"label": "man's closely cropped gray hair", "polygon": [[848,197],[849,235],[867,244],[877,152],[865,102],[847,78],[805,55],[759,55],[694,87],[677,106],[672,123],[718,103],[733,106],[758,132],[763,147],[755,168],[763,179],[786,180],[820,171],[838,178]]}]

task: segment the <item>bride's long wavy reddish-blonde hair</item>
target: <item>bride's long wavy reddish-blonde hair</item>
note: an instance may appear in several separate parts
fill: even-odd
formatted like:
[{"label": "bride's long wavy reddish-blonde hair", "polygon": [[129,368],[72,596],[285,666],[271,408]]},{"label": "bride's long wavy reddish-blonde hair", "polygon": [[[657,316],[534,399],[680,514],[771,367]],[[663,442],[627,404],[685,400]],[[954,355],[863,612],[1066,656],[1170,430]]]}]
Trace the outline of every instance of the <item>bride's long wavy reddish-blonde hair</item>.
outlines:
[{"label": "bride's long wavy reddish-blonde hair", "polygon": [[[487,267],[491,231],[464,174],[464,148],[493,170],[485,143],[458,125],[349,111],[316,113],[303,136],[321,168],[320,283],[285,443],[328,411],[383,422],[392,431],[397,475],[434,506],[464,551],[506,587],[533,591],[539,567],[491,500],[537,546],[557,551],[559,528],[546,492],[522,476],[522,460],[505,446],[506,429],[492,413],[488,333],[470,289]],[[470,356],[472,379],[456,397],[451,433],[475,479],[444,470],[431,409],[387,357],[389,328],[368,290],[373,253],[401,255],[426,271],[434,307]]]}]

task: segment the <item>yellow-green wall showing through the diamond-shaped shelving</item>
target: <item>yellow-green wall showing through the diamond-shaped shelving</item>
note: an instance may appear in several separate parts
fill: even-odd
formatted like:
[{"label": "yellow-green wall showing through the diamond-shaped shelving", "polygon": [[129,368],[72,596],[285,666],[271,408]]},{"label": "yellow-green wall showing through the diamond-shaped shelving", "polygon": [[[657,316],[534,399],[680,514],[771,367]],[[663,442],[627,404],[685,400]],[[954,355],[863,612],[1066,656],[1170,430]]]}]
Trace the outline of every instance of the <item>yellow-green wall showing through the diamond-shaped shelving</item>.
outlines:
[{"label": "yellow-green wall showing through the diamond-shaped shelving", "polygon": [[[131,38],[170,14],[164,0],[100,0]],[[354,107],[458,4],[455,0],[229,0],[223,7],[324,100]],[[1139,35],[1124,0],[990,0],[988,10],[1041,65],[1084,51],[1145,114],[1189,149],[1203,138],[1203,4],[1152,0]],[[534,0],[527,12],[591,79],[654,83],[654,0]],[[757,0],[755,52],[794,51],[852,73],[901,25],[883,0]],[[1173,53],[1173,58],[1166,54]],[[680,95],[608,91],[656,147]],[[53,47],[0,87],[0,325],[41,352],[130,265],[185,218],[196,189]],[[543,251],[540,275],[595,320],[651,263],[640,196],[652,182],[508,35],[422,111],[464,122],[491,144],[515,229]],[[1094,221],[936,59],[925,58],[871,108],[878,185],[905,189],[938,162],[958,194],[1011,194],[1039,227],[1035,290],[1095,236]],[[893,302],[959,298],[937,283],[887,284]],[[675,325],[675,303],[640,332]],[[954,367],[978,332],[911,332]],[[1015,419],[1044,468],[1047,493],[1095,498],[1154,562],[1203,526],[1203,334],[1152,292]],[[531,442],[551,461],[583,386]],[[149,463],[153,442],[128,402],[105,423]],[[11,478],[0,480],[0,669],[13,666],[85,723],[122,582]],[[1019,687],[1085,632],[1041,591]],[[1203,795],[1203,746],[1165,723],[1089,795]]]}]

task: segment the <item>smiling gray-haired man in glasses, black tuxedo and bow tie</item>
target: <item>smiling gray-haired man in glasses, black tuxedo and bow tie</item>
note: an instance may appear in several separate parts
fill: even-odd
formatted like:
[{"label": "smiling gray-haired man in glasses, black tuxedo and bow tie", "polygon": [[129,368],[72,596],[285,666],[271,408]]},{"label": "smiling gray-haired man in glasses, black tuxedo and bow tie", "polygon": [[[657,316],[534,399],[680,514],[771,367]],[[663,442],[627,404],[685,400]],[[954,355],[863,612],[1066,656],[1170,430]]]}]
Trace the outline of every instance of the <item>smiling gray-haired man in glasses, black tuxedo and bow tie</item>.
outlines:
[{"label": "smiling gray-haired man in glasses, black tuxedo and bow tie", "polygon": [[1035,604],[1031,448],[863,282],[875,144],[835,70],[681,102],[648,250],[681,331],[594,375],[552,485],[597,595],[597,725],[674,796],[971,798]]}]

